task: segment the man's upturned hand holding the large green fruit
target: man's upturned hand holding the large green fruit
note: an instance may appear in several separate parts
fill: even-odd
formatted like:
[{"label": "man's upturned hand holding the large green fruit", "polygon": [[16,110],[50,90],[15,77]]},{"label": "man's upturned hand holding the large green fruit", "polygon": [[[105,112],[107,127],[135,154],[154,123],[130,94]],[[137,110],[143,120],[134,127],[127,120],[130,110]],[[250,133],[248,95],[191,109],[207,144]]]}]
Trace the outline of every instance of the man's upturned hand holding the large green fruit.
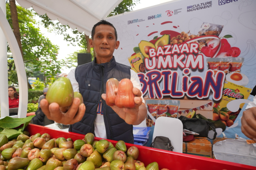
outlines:
[{"label": "man's upturned hand holding the large green fruit", "polygon": [[[74,124],[82,120],[85,113],[84,104],[80,104],[79,98],[74,98],[74,101],[68,111],[63,113],[60,111],[60,106],[57,103],[49,105],[46,99],[40,101],[40,107],[48,119],[62,123],[64,125]],[[78,112],[77,112],[78,111]]]}]

